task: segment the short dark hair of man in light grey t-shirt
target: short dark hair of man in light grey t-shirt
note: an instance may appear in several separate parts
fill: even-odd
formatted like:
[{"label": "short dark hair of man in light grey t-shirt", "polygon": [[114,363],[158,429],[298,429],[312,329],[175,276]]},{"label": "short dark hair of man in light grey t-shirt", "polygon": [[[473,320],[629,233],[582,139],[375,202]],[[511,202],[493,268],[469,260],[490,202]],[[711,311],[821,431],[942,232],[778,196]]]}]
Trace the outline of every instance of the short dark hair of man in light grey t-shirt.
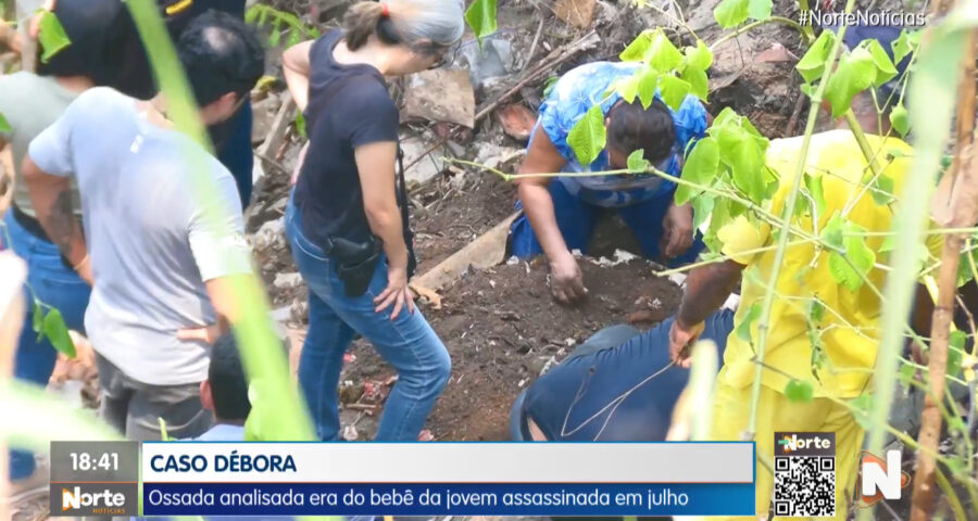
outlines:
[{"label": "short dark hair of man in light grey t-shirt", "polygon": [[200,106],[228,92],[246,96],[265,72],[258,36],[241,20],[220,11],[190,21],[177,41],[177,53]]}]

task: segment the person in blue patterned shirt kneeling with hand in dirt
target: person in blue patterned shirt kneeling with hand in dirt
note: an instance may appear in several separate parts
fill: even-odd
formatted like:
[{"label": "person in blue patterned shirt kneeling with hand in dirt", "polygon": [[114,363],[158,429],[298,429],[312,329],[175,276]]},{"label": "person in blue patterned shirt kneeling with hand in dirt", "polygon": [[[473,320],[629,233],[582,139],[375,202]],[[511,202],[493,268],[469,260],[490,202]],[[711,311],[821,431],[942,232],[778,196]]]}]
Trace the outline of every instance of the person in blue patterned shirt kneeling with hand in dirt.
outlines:
[{"label": "person in blue patterned shirt kneeling with hand in dirt", "polygon": [[[678,111],[659,99],[643,109],[640,101],[628,103],[617,92],[605,97],[618,79],[631,76],[637,68],[629,63],[595,62],[557,80],[540,107],[519,173],[623,169],[628,155],[642,150],[656,168],[678,176],[687,144],[706,130],[706,110],[694,96],[688,96]],[[594,163],[581,165],[567,136],[599,101],[605,114],[607,148]],[[510,253],[522,258],[546,253],[551,290],[561,303],[587,295],[572,250],[587,251],[602,213],[618,213],[650,258],[681,265],[693,260],[703,249],[693,236],[692,206],[676,205],[676,186],[655,175],[531,177],[519,180],[518,190],[516,207],[523,213],[510,230]]]}]

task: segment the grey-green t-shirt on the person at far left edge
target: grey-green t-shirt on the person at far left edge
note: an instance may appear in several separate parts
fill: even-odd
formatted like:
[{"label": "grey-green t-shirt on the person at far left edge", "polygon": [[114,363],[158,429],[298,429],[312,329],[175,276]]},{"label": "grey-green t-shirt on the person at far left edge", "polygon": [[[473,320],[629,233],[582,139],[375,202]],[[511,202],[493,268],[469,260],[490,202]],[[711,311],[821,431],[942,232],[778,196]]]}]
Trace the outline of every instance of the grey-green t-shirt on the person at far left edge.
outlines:
[{"label": "grey-green t-shirt on the person at far left edge", "polygon": [[[11,131],[0,136],[10,142],[14,161],[14,204],[25,214],[34,216],[30,193],[24,185],[21,163],[27,155],[27,145],[41,130],[58,119],[58,116],[77,98],[76,92],[58,85],[50,76],[34,73],[14,73],[0,76],[0,114],[10,123]],[[80,214],[78,191],[72,182],[75,209]]]}]

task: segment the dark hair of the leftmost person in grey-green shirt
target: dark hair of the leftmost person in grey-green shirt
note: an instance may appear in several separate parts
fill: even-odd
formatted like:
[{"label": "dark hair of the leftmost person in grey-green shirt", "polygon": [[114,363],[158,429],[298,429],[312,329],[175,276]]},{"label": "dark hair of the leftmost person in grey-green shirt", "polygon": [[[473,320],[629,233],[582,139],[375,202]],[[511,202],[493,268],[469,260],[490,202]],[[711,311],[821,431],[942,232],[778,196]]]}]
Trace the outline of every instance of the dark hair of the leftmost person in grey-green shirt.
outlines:
[{"label": "dark hair of the leftmost person in grey-green shirt", "polygon": [[60,0],[54,16],[64,27],[71,43],[58,51],[48,63],[38,59],[41,76],[85,76],[102,85],[112,74],[103,59],[110,45],[106,33],[126,5],[118,0]]}]

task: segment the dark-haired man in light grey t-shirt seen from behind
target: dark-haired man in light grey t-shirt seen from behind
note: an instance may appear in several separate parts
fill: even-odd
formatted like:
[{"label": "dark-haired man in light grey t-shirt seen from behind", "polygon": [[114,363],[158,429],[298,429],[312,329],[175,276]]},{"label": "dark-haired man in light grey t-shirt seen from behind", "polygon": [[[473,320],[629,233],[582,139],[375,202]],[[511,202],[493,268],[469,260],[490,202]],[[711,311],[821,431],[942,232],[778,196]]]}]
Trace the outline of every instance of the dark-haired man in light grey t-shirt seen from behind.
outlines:
[{"label": "dark-haired man in light grey t-shirt seen from behind", "polygon": [[[256,36],[226,13],[195,18],[177,52],[208,124],[230,117],[263,72]],[[177,437],[210,427],[200,403],[208,341],[222,329],[217,316],[237,317],[229,279],[251,272],[234,178],[173,128],[166,110],[162,96],[141,102],[90,89],[32,141],[24,162],[45,231],[95,282],[85,326],[100,414],[133,440],[159,439],[159,418]],[[217,186],[221,226],[211,226],[195,196],[200,171]],[[70,178],[78,183],[85,234]]]}]

